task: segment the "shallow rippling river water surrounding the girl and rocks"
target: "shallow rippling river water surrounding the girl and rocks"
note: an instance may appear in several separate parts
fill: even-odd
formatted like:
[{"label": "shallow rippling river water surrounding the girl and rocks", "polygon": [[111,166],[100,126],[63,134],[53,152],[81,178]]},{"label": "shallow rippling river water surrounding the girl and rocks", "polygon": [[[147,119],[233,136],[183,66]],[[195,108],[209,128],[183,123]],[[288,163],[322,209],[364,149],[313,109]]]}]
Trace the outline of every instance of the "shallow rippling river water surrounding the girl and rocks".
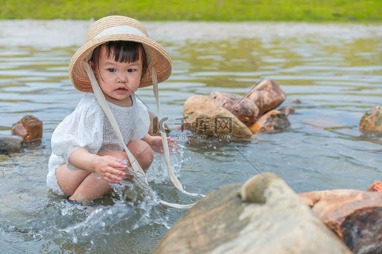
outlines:
[{"label": "shallow rippling river water surrounding the girl and rocks", "polygon": [[[24,115],[43,122],[37,148],[0,154],[4,253],[149,253],[186,211],[158,199],[198,200],[175,189],[159,154],[148,171],[150,188],[123,183],[87,209],[62,204],[64,197],[46,187],[51,133],[84,96],[70,83],[68,63],[91,23],[0,20],[0,135],[10,135]],[[274,172],[295,192],[365,190],[382,179],[382,138],[359,131],[362,115],[382,106],[380,23],[143,23],[172,57],[173,73],[159,84],[159,97],[179,137],[171,160],[188,192],[208,194],[258,171]],[[289,130],[245,142],[188,140],[176,130],[188,97],[243,96],[264,76],[287,93],[280,107],[295,109]],[[157,113],[150,87],[137,95]]]}]

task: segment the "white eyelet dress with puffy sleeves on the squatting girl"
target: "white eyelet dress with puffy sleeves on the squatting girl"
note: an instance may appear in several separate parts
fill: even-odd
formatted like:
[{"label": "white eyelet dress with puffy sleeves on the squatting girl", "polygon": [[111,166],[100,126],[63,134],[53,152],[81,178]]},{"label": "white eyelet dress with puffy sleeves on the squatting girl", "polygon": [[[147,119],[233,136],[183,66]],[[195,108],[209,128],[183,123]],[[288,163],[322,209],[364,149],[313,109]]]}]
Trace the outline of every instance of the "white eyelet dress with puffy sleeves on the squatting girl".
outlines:
[{"label": "white eyelet dress with puffy sleeves on the squatting girl", "polygon": [[[149,131],[150,118],[146,106],[131,96],[131,107],[120,107],[111,102],[110,106],[127,145],[131,140],[144,138]],[[120,150],[119,142],[112,125],[107,119],[94,93],[86,93],[73,113],[54,130],[51,138],[52,154],[49,158],[49,172],[46,184],[54,193],[64,195],[57,183],[56,169],[66,164],[70,170],[78,170],[68,160],[70,154],[79,148],[85,148],[96,154],[103,150]]]}]

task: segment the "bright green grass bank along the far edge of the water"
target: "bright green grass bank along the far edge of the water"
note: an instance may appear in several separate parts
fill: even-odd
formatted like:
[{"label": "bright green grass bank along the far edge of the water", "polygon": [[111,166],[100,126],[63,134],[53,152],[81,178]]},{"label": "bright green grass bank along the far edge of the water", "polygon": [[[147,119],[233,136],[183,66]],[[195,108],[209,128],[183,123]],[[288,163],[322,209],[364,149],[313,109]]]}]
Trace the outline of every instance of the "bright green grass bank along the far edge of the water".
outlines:
[{"label": "bright green grass bank along the far edge of the water", "polygon": [[382,21],[382,0],[0,0],[0,19]]}]

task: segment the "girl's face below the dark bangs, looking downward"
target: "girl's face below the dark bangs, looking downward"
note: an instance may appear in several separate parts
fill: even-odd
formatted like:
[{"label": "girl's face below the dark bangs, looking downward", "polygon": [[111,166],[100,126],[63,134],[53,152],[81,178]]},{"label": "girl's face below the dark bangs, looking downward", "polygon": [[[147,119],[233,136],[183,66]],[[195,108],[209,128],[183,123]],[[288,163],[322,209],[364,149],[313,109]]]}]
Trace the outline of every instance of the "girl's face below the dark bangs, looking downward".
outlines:
[{"label": "girl's face below the dark bangs, looking downward", "polygon": [[136,62],[117,62],[114,55],[107,58],[102,48],[98,59],[93,71],[106,100],[121,107],[131,106],[130,96],[141,82],[142,57]]}]

